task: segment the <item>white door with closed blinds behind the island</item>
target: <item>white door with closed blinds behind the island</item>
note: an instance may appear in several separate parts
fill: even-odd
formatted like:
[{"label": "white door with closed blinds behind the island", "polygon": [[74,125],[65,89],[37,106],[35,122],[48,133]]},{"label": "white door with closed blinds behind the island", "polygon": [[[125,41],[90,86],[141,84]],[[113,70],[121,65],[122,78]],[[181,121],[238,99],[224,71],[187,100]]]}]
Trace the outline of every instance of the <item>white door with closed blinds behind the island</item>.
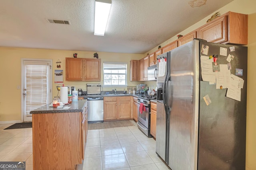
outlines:
[{"label": "white door with closed blinds behind the island", "polygon": [[30,111],[52,100],[51,61],[23,61],[23,120],[32,121]]}]

